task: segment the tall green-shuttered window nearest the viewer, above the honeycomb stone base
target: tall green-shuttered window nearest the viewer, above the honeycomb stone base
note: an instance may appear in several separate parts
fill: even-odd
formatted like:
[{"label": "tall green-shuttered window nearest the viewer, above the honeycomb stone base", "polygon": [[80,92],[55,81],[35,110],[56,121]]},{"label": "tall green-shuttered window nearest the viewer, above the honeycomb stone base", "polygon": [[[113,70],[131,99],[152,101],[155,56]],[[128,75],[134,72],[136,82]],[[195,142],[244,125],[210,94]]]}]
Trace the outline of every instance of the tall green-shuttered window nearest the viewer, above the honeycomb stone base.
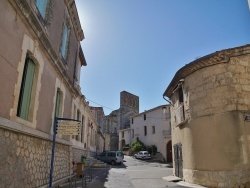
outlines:
[{"label": "tall green-shuttered window nearest the viewer, above the honeycomb stone base", "polygon": [[27,56],[23,70],[23,77],[17,107],[17,116],[25,120],[29,120],[34,72],[35,64],[32,59]]}]

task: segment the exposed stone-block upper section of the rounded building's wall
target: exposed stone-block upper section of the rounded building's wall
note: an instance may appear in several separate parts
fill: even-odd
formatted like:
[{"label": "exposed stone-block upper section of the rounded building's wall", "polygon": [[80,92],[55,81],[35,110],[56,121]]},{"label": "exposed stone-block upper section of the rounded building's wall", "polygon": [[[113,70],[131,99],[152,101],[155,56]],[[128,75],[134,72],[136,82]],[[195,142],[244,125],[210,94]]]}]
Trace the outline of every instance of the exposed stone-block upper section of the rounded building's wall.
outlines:
[{"label": "exposed stone-block upper section of the rounded building's wall", "polygon": [[193,119],[234,110],[250,111],[250,56],[232,57],[229,63],[194,72],[185,78],[184,93]]}]

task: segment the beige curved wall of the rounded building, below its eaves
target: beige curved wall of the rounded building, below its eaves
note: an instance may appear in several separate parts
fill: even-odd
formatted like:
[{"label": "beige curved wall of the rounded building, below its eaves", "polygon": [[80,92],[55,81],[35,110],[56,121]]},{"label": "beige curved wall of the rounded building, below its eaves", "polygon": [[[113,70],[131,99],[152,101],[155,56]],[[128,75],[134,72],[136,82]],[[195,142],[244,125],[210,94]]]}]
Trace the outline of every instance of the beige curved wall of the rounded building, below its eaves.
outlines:
[{"label": "beige curved wall of the rounded building, below its eaves", "polygon": [[[244,121],[250,114],[250,56],[231,57],[228,63],[199,69],[184,79],[187,122],[172,127],[173,145],[182,144],[183,168],[195,171],[184,172],[184,179],[199,184],[201,174],[211,172],[205,185],[228,187],[226,178],[214,175],[218,172],[234,174],[240,184],[250,182],[250,122]],[[176,98],[171,100],[175,105]],[[242,169],[247,175],[242,176]]]}]

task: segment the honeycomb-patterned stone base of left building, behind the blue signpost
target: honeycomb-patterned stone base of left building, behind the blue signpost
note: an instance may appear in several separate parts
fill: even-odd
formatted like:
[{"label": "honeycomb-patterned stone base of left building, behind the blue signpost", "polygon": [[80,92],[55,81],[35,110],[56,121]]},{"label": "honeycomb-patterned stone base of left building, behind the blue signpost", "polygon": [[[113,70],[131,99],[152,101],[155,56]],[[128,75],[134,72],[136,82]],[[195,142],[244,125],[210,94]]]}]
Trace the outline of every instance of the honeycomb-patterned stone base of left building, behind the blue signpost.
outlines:
[{"label": "honeycomb-patterned stone base of left building, behind the blue signpost", "polygon": [[[0,128],[0,187],[39,187],[49,183],[52,143]],[[56,144],[53,181],[69,175],[69,147]]]}]

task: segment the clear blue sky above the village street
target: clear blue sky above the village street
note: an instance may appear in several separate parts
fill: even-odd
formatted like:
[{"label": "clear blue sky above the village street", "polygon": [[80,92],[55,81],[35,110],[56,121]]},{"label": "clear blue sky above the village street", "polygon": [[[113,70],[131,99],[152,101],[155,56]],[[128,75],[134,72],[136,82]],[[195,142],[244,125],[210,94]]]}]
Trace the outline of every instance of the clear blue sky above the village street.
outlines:
[{"label": "clear blue sky above the village street", "polygon": [[140,112],[167,104],[175,73],[215,51],[250,43],[247,0],[76,0],[87,66],[82,93],[91,106],[120,107],[120,92]]}]

